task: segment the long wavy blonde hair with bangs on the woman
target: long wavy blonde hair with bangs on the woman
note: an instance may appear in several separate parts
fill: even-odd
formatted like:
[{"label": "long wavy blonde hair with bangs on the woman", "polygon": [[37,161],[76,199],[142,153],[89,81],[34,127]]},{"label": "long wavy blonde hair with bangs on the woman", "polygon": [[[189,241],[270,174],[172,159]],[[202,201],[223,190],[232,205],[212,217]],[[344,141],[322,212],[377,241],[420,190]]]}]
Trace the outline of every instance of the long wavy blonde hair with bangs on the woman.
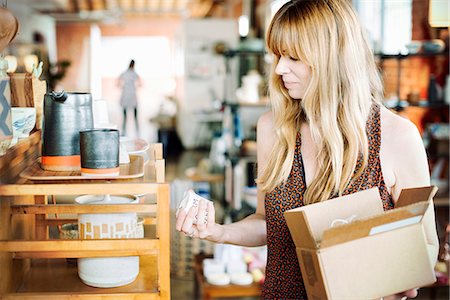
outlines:
[{"label": "long wavy blonde hair with bangs on the woman", "polygon": [[[317,176],[305,204],[342,195],[368,161],[366,122],[382,84],[364,31],[349,0],[293,0],[273,17],[267,47],[274,56],[269,97],[277,142],[257,182],[269,192],[291,172],[296,137],[308,122],[317,145]],[[311,80],[301,100],[292,99],[275,73],[280,56],[301,60]],[[358,158],[362,158],[357,168]]]}]

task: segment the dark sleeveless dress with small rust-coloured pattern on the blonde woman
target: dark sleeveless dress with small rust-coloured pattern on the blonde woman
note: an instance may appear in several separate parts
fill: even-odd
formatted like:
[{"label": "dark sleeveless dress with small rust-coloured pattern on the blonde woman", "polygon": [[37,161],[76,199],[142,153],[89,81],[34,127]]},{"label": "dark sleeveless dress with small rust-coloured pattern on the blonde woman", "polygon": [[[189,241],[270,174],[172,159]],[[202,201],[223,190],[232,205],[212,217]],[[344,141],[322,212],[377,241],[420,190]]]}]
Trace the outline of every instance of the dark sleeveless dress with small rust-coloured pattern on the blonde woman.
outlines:
[{"label": "dark sleeveless dress with small rust-coloured pattern on the blonde woman", "polygon": [[[344,195],[378,187],[385,210],[394,203],[381,173],[380,107],[372,105],[366,124],[369,145],[368,166],[361,176],[345,190]],[[301,136],[297,134],[294,161],[287,181],[266,193],[267,266],[262,297],[265,299],[307,299],[295,244],[289,233],[283,212],[303,206],[305,190],[304,169],[301,157]],[[358,166],[361,165],[359,161]]]}]

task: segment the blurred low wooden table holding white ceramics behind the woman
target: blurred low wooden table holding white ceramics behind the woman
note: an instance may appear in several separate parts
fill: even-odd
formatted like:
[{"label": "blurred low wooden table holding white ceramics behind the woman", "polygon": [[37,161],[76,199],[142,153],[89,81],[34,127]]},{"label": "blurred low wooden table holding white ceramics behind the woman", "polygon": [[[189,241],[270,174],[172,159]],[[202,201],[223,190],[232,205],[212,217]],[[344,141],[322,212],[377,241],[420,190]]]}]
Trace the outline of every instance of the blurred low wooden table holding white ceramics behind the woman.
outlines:
[{"label": "blurred low wooden table holding white ceramics behind the woman", "polygon": [[200,295],[203,299],[261,296],[261,284],[259,283],[252,283],[246,286],[236,284],[216,286],[209,284],[203,275],[203,260],[205,258],[212,258],[212,255],[198,254],[194,258],[196,299],[200,299]]}]

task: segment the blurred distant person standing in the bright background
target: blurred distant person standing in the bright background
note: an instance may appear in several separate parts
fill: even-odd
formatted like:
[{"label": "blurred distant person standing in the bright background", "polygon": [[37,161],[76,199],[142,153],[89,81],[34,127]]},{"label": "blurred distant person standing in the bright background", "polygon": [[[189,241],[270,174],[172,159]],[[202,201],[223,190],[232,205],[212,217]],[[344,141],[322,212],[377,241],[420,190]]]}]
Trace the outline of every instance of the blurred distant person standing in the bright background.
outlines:
[{"label": "blurred distant person standing in the bright background", "polygon": [[128,69],[120,74],[117,85],[122,88],[122,95],[120,97],[120,105],[123,109],[123,125],[122,135],[127,134],[127,110],[134,110],[134,122],[136,124],[136,132],[139,133],[139,123],[137,114],[137,95],[136,88],[141,86],[141,79],[134,70],[134,60],[130,61]]}]

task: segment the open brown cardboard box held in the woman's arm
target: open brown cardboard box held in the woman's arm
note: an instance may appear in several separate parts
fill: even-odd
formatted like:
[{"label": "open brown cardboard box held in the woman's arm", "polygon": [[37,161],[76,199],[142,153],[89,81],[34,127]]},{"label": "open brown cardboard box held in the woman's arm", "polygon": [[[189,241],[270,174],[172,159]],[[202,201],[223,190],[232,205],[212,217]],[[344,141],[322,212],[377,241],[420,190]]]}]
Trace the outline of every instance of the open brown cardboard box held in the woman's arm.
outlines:
[{"label": "open brown cardboard box held in the woman's arm", "polygon": [[424,223],[436,190],[402,190],[389,211],[378,188],[286,211],[308,298],[379,299],[435,282]]}]

